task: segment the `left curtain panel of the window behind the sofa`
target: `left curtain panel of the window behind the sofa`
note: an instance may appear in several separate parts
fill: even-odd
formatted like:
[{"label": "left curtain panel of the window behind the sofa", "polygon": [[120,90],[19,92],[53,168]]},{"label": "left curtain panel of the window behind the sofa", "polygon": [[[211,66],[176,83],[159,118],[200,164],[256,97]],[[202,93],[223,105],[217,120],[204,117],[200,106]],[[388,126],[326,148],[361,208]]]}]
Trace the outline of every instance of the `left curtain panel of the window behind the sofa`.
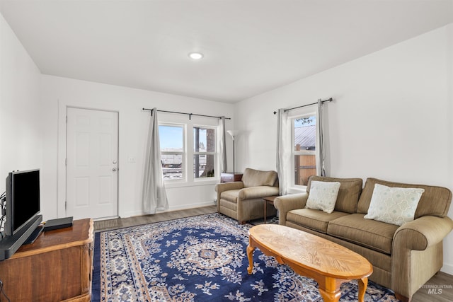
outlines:
[{"label": "left curtain panel of the window behind the sofa", "polygon": [[277,173],[280,195],[285,195],[291,179],[291,131],[285,109],[278,110],[277,119]]}]

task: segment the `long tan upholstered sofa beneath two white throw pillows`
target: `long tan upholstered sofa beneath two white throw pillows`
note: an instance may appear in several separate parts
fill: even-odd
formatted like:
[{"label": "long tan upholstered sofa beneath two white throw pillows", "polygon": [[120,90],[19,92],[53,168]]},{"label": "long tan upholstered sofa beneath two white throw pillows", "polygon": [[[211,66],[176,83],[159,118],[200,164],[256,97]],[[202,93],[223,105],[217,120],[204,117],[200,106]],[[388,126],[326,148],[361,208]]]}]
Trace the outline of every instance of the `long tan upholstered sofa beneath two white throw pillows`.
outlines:
[{"label": "long tan upholstered sofa beneath two white throw pillows", "polygon": [[[331,214],[305,208],[315,180],[340,182]],[[424,189],[414,220],[398,226],[365,219],[375,184]],[[415,291],[442,267],[442,240],[453,228],[453,221],[447,216],[451,200],[452,192],[445,187],[368,178],[362,189],[361,178],[314,176],[306,193],[278,197],[274,205],[280,224],[327,238],[366,257],[373,265],[370,280],[392,289],[399,300],[411,301]]]}]

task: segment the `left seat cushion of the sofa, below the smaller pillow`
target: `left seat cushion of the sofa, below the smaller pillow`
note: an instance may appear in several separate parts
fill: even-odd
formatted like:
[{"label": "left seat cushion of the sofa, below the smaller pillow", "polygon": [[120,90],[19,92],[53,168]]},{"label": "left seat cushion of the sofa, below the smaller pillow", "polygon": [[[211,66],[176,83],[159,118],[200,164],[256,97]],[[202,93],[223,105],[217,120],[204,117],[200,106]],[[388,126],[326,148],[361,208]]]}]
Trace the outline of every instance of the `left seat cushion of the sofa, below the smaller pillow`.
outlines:
[{"label": "left seat cushion of the sofa, below the smaller pillow", "polygon": [[314,209],[296,209],[287,213],[286,221],[297,223],[314,231],[327,233],[329,221],[346,215],[350,214],[340,211],[333,211],[331,214],[327,214],[324,211]]}]

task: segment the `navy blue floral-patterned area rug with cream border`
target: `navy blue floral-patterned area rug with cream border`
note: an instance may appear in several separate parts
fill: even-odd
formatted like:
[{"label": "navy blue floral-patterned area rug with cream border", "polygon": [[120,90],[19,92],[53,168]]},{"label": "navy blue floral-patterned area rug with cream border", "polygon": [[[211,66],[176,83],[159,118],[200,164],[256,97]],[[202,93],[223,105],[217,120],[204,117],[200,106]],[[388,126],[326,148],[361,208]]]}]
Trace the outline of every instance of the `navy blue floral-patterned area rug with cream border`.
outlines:
[{"label": "navy blue floral-patterned area rug with cream border", "polygon": [[[247,274],[248,229],[220,214],[96,233],[92,301],[323,301],[316,281],[257,248]],[[357,281],[340,301],[357,301]],[[369,282],[365,301],[397,301]]]}]

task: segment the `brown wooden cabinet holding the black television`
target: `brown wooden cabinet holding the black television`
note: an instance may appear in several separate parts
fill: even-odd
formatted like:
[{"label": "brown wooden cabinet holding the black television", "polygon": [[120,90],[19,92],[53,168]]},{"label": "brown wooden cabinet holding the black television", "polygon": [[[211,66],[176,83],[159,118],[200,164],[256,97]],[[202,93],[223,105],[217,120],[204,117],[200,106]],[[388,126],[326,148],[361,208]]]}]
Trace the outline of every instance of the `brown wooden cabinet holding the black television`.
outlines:
[{"label": "brown wooden cabinet holding the black television", "polygon": [[11,301],[91,301],[93,221],[42,232],[0,262],[0,280]]}]

